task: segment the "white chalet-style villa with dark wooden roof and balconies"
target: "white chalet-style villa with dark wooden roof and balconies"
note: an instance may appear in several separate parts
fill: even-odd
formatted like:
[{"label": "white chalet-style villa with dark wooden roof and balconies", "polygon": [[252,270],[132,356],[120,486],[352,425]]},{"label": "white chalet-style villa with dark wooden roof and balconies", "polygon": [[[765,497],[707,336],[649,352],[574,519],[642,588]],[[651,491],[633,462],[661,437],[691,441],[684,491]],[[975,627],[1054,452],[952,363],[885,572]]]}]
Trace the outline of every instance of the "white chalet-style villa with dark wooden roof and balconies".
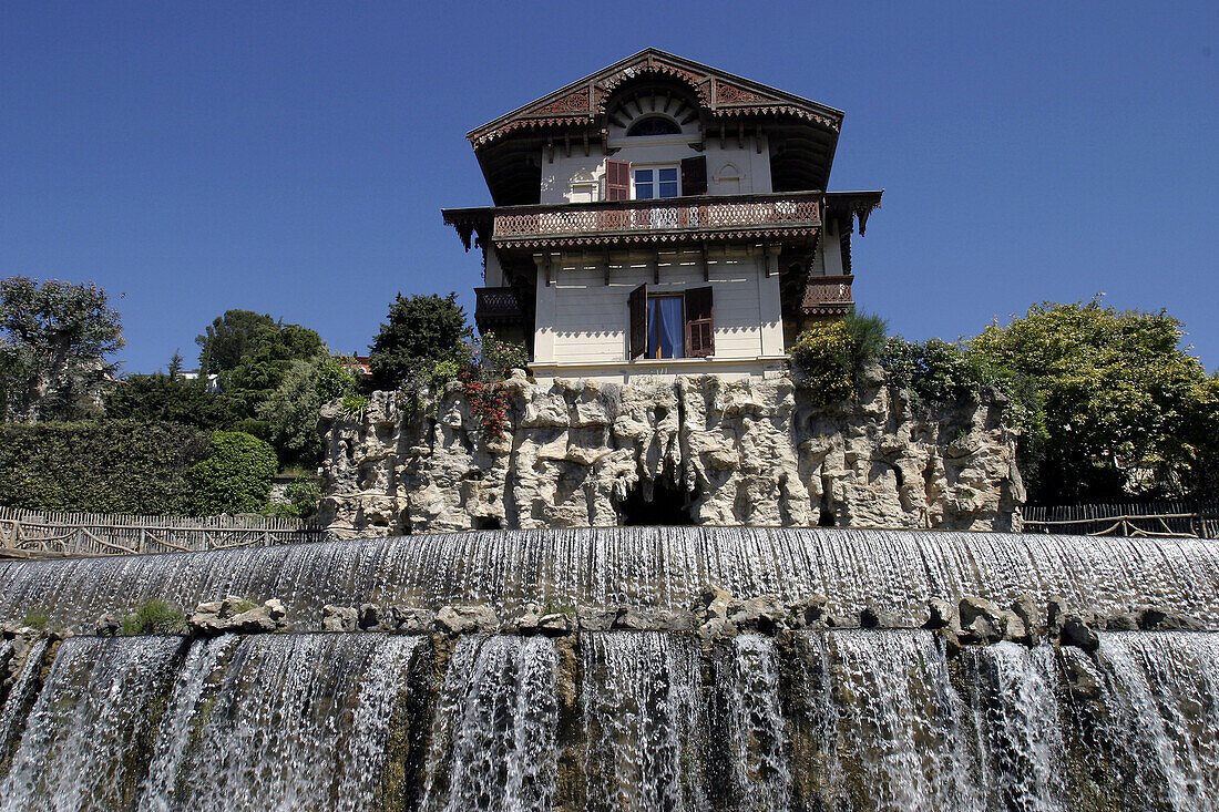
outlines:
[{"label": "white chalet-style villa with dark wooden roof and balconies", "polygon": [[494,207],[480,330],[538,378],[779,373],[847,312],[851,234],[880,191],[826,193],[842,112],[647,49],[472,130]]}]

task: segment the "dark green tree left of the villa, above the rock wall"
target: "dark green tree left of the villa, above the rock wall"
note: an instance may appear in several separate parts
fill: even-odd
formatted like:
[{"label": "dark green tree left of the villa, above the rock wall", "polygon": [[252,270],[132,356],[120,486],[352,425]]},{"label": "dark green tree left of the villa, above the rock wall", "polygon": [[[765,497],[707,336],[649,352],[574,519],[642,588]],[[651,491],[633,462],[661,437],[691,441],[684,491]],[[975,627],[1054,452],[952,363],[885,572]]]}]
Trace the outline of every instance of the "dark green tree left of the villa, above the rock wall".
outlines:
[{"label": "dark green tree left of the villa, above the rock wall", "polygon": [[397,389],[418,358],[439,361],[451,356],[462,339],[473,334],[457,294],[445,297],[397,294],[389,308],[389,323],[369,345],[372,383],[377,389]]}]

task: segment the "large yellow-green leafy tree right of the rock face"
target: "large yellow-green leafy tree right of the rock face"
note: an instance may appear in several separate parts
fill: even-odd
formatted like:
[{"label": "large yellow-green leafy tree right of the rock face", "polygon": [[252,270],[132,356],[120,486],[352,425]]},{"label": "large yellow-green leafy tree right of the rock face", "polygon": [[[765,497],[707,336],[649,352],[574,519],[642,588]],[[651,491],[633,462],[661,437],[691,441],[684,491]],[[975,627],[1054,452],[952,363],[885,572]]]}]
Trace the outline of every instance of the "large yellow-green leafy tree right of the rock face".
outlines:
[{"label": "large yellow-green leafy tree right of the rock face", "polygon": [[1022,441],[1031,501],[1181,493],[1198,457],[1179,434],[1189,424],[1206,435],[1209,391],[1184,335],[1163,311],[1118,312],[1096,297],[1034,305],[972,340],[986,362],[1031,386],[1043,410],[1043,436]]}]

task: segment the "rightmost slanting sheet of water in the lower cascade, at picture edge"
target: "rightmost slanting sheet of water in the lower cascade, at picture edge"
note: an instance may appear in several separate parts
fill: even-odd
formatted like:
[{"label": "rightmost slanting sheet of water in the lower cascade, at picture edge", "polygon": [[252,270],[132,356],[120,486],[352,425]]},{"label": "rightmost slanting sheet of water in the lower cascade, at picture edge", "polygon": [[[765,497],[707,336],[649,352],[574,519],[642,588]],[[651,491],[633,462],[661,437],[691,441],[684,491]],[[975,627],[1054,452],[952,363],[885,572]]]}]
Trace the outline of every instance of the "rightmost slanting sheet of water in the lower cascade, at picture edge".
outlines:
[{"label": "rightmost slanting sheet of water in the lower cascade, at picture edge", "polygon": [[1219,640],[1180,632],[1101,635],[1111,757],[1132,803],[1219,810]]}]

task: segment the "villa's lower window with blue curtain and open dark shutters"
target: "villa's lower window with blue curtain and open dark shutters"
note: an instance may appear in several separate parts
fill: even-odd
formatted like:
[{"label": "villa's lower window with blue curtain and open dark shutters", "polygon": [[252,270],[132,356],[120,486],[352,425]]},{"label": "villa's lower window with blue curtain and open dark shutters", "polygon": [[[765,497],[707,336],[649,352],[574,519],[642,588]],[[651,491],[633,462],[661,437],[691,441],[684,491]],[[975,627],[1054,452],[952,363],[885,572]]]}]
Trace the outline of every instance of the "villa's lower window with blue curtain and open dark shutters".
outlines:
[{"label": "villa's lower window with blue curtain and open dark shutters", "polygon": [[649,294],[640,285],[630,294],[630,357],[698,358],[716,352],[711,288],[685,293]]}]

